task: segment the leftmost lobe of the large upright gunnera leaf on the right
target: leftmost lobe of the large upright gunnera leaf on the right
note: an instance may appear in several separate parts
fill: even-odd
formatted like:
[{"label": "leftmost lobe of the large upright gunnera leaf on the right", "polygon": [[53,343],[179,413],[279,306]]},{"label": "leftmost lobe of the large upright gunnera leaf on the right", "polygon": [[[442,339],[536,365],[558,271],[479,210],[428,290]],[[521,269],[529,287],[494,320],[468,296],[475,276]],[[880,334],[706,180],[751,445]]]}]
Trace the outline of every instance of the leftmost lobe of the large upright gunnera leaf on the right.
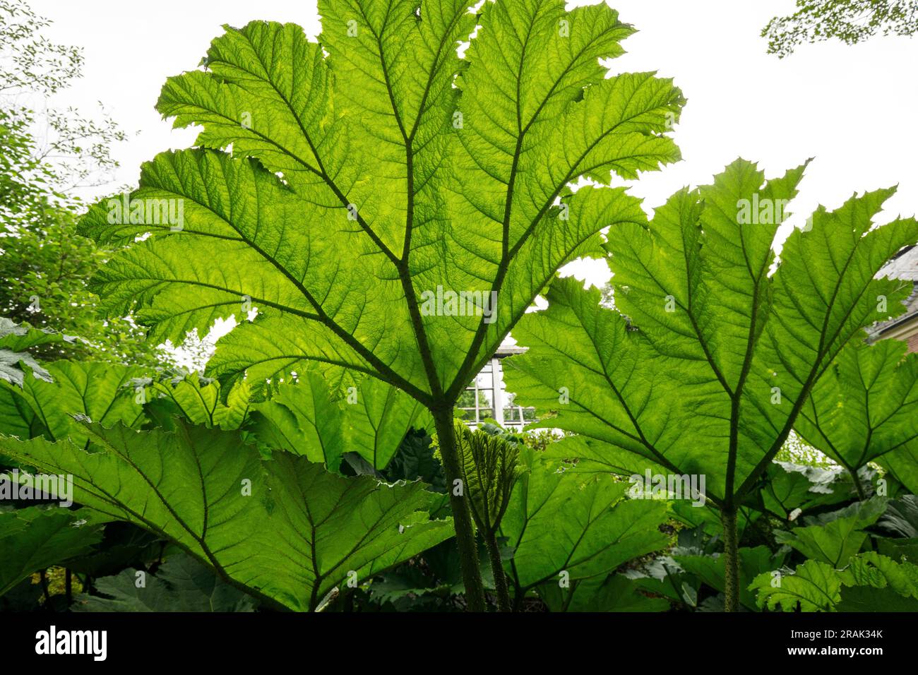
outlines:
[{"label": "leftmost lobe of the large upright gunnera leaf on the right", "polygon": [[[682,406],[660,357],[619,315],[599,306],[598,289],[584,291],[568,277],[555,281],[547,298],[548,309],[523,317],[514,330],[529,351],[504,359],[507,387],[518,400],[559,412],[537,426],[599,442],[565,439],[564,447],[552,453],[584,460],[577,470],[593,465],[599,471],[643,476],[648,460],[651,467],[669,467],[655,448],[676,443]],[[623,405],[621,399],[633,404]],[[641,433],[635,432],[632,419]]]}]

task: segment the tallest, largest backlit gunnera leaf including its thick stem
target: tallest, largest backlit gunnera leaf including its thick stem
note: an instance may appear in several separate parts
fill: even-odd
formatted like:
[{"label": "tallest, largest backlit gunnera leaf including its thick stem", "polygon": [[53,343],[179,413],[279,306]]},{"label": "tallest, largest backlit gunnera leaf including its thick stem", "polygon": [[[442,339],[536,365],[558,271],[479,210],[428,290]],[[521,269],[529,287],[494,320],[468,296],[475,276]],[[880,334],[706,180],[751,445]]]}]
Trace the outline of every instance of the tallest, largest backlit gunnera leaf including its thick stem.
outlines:
[{"label": "tallest, largest backlit gunnera leaf including its thick stem", "polygon": [[[257,390],[346,368],[445,429],[558,268],[598,253],[600,230],[644,222],[610,183],[679,159],[667,134],[684,98],[654,73],[607,77],[600,61],[633,28],[605,4],[320,0],[319,14],[316,41],[228,27],[166,82],[157,109],[200,128],[196,148],[90,209],[81,232],[123,247],[92,288],[153,340],[241,321],[209,376]],[[574,192],[583,178],[596,185]],[[441,450],[452,482],[451,434]],[[475,570],[467,505],[452,507]],[[466,585],[483,609],[480,579]]]}]

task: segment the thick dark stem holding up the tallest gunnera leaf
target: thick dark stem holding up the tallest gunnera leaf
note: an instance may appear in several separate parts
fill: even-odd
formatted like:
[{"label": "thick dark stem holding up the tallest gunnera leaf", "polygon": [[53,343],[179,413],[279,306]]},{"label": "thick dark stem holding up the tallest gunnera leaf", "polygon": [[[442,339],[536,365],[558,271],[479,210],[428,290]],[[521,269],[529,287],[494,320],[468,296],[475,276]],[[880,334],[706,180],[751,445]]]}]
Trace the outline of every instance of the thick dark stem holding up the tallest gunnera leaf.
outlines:
[{"label": "thick dark stem holding up the tallest gunnera leaf", "polygon": [[443,471],[446,474],[446,487],[450,490],[450,507],[453,510],[456,546],[459,548],[459,567],[462,569],[462,578],[465,583],[467,611],[484,612],[485,586],[481,581],[481,570],[478,568],[475,530],[472,527],[472,513],[465,499],[465,486],[463,486],[462,495],[455,493],[455,481],[461,480],[462,474],[459,471],[459,454],[456,450],[456,439],[453,432],[453,409],[451,406],[431,412],[437,428],[440,456],[443,460]]}]

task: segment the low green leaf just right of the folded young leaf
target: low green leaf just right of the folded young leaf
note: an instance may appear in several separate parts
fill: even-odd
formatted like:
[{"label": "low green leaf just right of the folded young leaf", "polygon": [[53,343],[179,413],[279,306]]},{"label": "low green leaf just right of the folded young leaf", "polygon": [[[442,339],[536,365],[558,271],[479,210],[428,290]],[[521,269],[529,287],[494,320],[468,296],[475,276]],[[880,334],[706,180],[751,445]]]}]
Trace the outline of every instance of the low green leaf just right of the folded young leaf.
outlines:
[{"label": "low green leaf just right of the folded young leaf", "polygon": [[624,499],[628,483],[566,471],[530,448],[520,464],[499,532],[514,549],[508,571],[518,591],[557,584],[563,572],[570,581],[608,575],[666,546],[665,501]]}]

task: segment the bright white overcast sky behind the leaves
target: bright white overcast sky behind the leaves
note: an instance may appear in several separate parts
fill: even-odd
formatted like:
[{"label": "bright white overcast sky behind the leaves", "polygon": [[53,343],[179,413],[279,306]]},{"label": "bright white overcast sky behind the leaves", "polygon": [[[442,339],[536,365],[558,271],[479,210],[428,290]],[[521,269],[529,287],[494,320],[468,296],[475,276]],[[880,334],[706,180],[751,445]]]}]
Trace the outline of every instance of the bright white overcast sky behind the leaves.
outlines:
[{"label": "bright white overcast sky behind the leaves", "polygon": [[[640,31],[615,71],[656,70],[689,99],[676,139],[684,160],[645,174],[633,194],[645,206],[711,180],[737,156],[774,175],[814,157],[792,205],[797,218],[817,204],[840,205],[855,191],[899,184],[882,221],[918,211],[918,39],[876,38],[855,47],[806,45],[784,60],[765,53],[759,31],[793,0],[609,0]],[[116,186],[134,185],[140,163],[194,141],[153,105],[166,77],[196,68],[221,26],[252,19],[291,21],[319,32],[315,0],[29,0],[54,21],[46,35],[84,48],[84,78],[54,103],[89,112],[96,101],[128,131],[115,148]],[[574,3],[592,4],[592,3]],[[111,191],[111,190],[109,190]],[[577,276],[608,277],[604,264]]]}]

